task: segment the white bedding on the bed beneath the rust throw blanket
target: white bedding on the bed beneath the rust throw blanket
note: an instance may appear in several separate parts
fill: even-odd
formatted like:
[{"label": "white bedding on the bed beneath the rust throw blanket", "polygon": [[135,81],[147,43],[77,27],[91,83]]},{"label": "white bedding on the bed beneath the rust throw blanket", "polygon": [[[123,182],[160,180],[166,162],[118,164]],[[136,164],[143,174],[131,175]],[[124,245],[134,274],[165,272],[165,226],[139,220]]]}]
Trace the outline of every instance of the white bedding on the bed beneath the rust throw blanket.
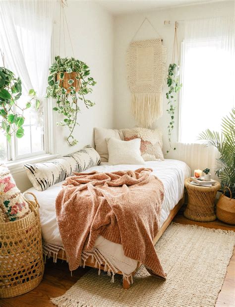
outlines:
[{"label": "white bedding on the bed beneath the rust throw blanket", "polygon": [[[168,218],[170,211],[175,207],[183,196],[184,179],[190,177],[190,168],[182,161],[166,159],[164,161],[148,161],[145,165],[109,165],[103,162],[100,166],[92,167],[84,173],[97,170],[99,172],[115,172],[117,170],[136,170],[141,167],[153,169],[156,175],[164,184],[165,195],[162,204],[161,225]],[[31,187],[25,192],[33,192],[40,204],[40,220],[42,236],[45,242],[62,245],[55,213],[55,199],[61,189],[61,185],[55,184],[45,191],[37,191]],[[30,196],[26,197],[30,198]],[[78,221],[79,223],[79,221]],[[121,245],[112,243],[99,236],[95,246],[102,255],[108,259],[121,272],[130,274],[135,270],[137,261],[127,258],[123,253]]]}]

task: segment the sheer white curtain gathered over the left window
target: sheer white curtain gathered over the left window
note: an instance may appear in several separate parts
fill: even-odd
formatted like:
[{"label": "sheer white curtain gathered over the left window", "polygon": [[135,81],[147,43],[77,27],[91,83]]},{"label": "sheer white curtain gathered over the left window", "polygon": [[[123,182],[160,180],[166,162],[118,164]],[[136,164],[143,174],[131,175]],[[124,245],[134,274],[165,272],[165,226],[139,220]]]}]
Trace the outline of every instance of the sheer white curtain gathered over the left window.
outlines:
[{"label": "sheer white curtain gathered over the left window", "polygon": [[[56,0],[0,1],[0,48],[5,65],[22,80],[23,95],[37,92],[42,117]],[[41,112],[40,112],[41,111]]]}]

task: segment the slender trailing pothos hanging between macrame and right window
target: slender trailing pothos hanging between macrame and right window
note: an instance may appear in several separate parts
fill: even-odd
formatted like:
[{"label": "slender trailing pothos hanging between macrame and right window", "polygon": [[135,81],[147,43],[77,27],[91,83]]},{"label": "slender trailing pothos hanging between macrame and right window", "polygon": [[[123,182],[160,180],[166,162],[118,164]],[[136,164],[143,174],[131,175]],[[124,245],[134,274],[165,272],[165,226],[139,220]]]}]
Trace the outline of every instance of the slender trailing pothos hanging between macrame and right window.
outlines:
[{"label": "slender trailing pothos hanging between macrame and right window", "polygon": [[167,85],[169,87],[169,91],[166,93],[168,99],[168,110],[167,113],[170,115],[171,120],[168,125],[168,142],[169,142],[169,153],[171,150],[176,150],[176,147],[172,147],[171,135],[174,129],[175,124],[175,111],[176,111],[176,103],[177,103],[177,92],[182,87],[182,84],[179,83],[179,65],[176,63],[170,64],[168,68],[168,76],[167,76]]}]

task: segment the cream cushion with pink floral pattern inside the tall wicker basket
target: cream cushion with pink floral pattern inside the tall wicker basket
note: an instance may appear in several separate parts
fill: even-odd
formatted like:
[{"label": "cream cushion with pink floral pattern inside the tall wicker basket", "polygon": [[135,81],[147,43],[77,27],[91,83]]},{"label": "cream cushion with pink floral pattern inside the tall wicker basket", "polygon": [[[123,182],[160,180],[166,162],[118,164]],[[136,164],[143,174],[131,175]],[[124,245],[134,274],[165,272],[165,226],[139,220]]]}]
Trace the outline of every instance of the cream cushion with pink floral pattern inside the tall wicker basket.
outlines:
[{"label": "cream cushion with pink floral pattern inside the tall wicker basket", "polygon": [[0,222],[14,222],[31,212],[8,168],[0,164]]}]

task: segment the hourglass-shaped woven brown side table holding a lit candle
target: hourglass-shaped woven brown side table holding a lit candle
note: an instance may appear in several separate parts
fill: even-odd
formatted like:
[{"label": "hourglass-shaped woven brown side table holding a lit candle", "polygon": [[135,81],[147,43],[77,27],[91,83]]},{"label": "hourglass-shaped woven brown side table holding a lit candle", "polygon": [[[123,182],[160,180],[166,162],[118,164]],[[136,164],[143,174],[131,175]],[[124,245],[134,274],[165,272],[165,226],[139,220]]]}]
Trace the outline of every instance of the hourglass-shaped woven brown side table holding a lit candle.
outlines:
[{"label": "hourglass-shaped woven brown side table holding a lit candle", "polygon": [[191,179],[185,179],[184,185],[188,193],[188,204],[183,215],[192,221],[211,222],[216,219],[215,196],[221,185],[216,182],[213,186],[190,184]]}]

